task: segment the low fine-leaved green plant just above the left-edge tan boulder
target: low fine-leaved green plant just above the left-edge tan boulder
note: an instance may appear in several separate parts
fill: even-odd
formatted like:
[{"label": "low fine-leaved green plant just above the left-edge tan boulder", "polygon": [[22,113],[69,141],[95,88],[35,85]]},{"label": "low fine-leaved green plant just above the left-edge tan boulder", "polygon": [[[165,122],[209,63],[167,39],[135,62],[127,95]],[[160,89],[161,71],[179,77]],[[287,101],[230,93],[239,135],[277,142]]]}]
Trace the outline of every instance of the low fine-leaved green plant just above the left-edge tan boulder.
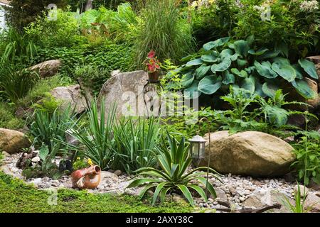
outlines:
[{"label": "low fine-leaved green plant just above the left-edge tan boulder", "polygon": [[14,108],[9,104],[0,102],[0,128],[16,130],[24,125],[25,122],[21,118],[14,116]]}]

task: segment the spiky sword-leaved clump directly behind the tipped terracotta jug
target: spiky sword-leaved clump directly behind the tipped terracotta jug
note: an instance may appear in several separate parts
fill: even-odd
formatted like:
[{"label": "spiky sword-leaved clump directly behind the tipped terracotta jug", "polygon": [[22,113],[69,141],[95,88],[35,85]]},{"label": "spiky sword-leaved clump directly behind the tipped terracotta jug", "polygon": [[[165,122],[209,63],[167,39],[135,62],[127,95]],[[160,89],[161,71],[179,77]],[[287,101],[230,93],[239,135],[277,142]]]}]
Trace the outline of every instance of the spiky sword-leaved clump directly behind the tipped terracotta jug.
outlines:
[{"label": "spiky sword-leaved clump directly behind the tipped terracotta jug", "polygon": [[71,128],[67,133],[73,138],[79,140],[80,144],[85,146],[85,157],[90,158],[95,165],[99,165],[102,170],[110,167],[110,161],[114,156],[112,150],[113,133],[116,106],[105,116],[105,101],[100,103],[100,110],[98,111],[97,101],[92,101],[92,105],[88,110],[89,126],[85,128],[78,128],[75,130]]}]

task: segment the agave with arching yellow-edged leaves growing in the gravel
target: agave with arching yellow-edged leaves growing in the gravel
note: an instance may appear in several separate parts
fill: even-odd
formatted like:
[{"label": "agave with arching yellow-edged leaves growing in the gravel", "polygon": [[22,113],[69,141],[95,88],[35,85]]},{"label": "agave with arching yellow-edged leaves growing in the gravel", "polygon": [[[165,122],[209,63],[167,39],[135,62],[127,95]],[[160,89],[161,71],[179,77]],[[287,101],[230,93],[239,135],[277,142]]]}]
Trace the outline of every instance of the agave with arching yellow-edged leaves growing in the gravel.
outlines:
[{"label": "agave with arching yellow-edged leaves growing in the gravel", "polygon": [[208,179],[203,177],[204,172],[202,170],[209,170],[210,174],[218,179],[218,172],[208,167],[198,167],[191,172],[188,172],[188,167],[191,165],[192,158],[186,146],[185,139],[181,138],[179,144],[174,137],[171,137],[167,132],[167,138],[170,145],[168,149],[166,142],[163,141],[161,147],[157,147],[156,159],[159,162],[160,170],[153,167],[143,167],[137,170],[137,176],[149,176],[149,178],[135,179],[130,187],[144,187],[140,193],[140,198],[144,196],[146,191],[154,189],[154,196],[152,199],[152,205],[156,203],[156,199],[160,196],[161,201],[164,201],[168,192],[181,192],[183,196],[188,200],[191,206],[193,203],[193,196],[191,192],[198,193],[203,199],[207,201],[206,192],[198,183],[203,184],[208,189],[208,192],[216,197],[215,189],[213,185],[208,182]]}]

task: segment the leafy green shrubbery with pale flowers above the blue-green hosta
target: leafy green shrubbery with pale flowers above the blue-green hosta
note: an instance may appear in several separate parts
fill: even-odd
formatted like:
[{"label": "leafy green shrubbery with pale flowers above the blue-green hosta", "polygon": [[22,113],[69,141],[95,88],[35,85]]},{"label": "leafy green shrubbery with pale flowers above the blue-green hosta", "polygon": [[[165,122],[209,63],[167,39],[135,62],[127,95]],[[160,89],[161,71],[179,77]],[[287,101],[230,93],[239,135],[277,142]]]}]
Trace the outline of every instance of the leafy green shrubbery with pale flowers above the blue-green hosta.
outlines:
[{"label": "leafy green shrubbery with pale flowers above the blue-green hosta", "polygon": [[[255,35],[255,45],[277,48],[286,57],[297,60],[317,55],[319,43],[318,7],[306,9],[303,0],[198,1],[191,9],[193,28],[198,42],[230,36],[235,40]],[[270,18],[267,11],[270,10]]]}]

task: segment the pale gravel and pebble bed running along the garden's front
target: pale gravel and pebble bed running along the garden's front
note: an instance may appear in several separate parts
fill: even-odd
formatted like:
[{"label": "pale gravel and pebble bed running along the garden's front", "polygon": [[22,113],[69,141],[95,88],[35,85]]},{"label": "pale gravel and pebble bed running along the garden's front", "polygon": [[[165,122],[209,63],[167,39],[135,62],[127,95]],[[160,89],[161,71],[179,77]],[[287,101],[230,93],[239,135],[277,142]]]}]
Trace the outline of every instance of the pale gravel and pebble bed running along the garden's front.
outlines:
[{"label": "pale gravel and pebble bed running along the garden's front", "polygon": [[[1,170],[8,175],[23,179],[29,184],[34,184],[38,189],[63,189],[71,188],[70,176],[63,176],[60,179],[50,179],[49,177],[25,179],[22,176],[22,170],[16,167],[16,162],[21,154],[7,155],[2,160]],[[57,159],[58,163],[59,160]],[[208,199],[208,203],[203,199],[196,198],[196,211],[204,210],[205,212],[221,212],[220,209],[228,208],[233,210],[240,210],[244,208],[259,209],[262,206],[272,204],[281,204],[284,196],[287,196],[290,201],[293,201],[294,187],[296,182],[294,180],[289,182],[282,178],[274,179],[254,179],[252,177],[239,177],[234,175],[224,175],[218,182],[213,177],[210,177],[210,182],[213,183],[217,193],[217,199]],[[97,189],[90,189],[88,192],[92,193],[113,193],[113,194],[131,194],[138,195],[139,188],[126,189],[132,177],[121,173],[121,171],[102,171],[102,180]],[[297,187],[297,186],[296,186]],[[316,192],[320,196],[320,192]],[[176,201],[182,201],[176,194],[172,198]],[[217,211],[216,211],[217,210]],[[277,209],[273,211],[277,212]],[[278,211],[285,211],[284,206]]]}]

